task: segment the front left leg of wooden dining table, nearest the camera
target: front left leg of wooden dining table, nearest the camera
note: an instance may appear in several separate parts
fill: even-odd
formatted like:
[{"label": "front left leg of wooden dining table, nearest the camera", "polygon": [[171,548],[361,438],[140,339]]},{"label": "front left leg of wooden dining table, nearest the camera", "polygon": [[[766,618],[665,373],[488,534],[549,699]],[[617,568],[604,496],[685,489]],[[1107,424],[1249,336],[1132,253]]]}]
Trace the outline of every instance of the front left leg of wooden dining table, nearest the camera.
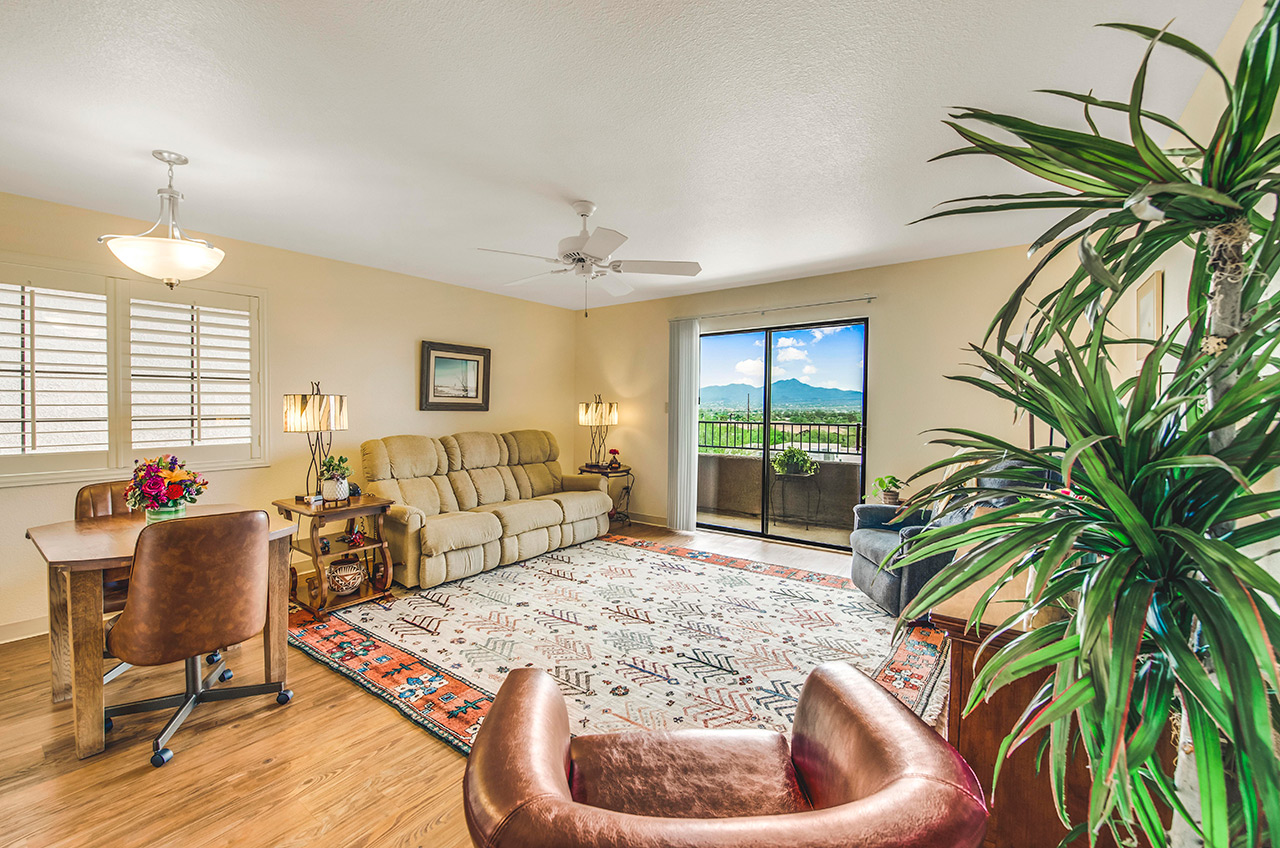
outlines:
[{"label": "front left leg of wooden dining table, nearest the camera", "polygon": [[105,747],[102,728],[102,573],[68,575],[72,646],[72,698],[76,706],[76,756],[83,760]]}]

